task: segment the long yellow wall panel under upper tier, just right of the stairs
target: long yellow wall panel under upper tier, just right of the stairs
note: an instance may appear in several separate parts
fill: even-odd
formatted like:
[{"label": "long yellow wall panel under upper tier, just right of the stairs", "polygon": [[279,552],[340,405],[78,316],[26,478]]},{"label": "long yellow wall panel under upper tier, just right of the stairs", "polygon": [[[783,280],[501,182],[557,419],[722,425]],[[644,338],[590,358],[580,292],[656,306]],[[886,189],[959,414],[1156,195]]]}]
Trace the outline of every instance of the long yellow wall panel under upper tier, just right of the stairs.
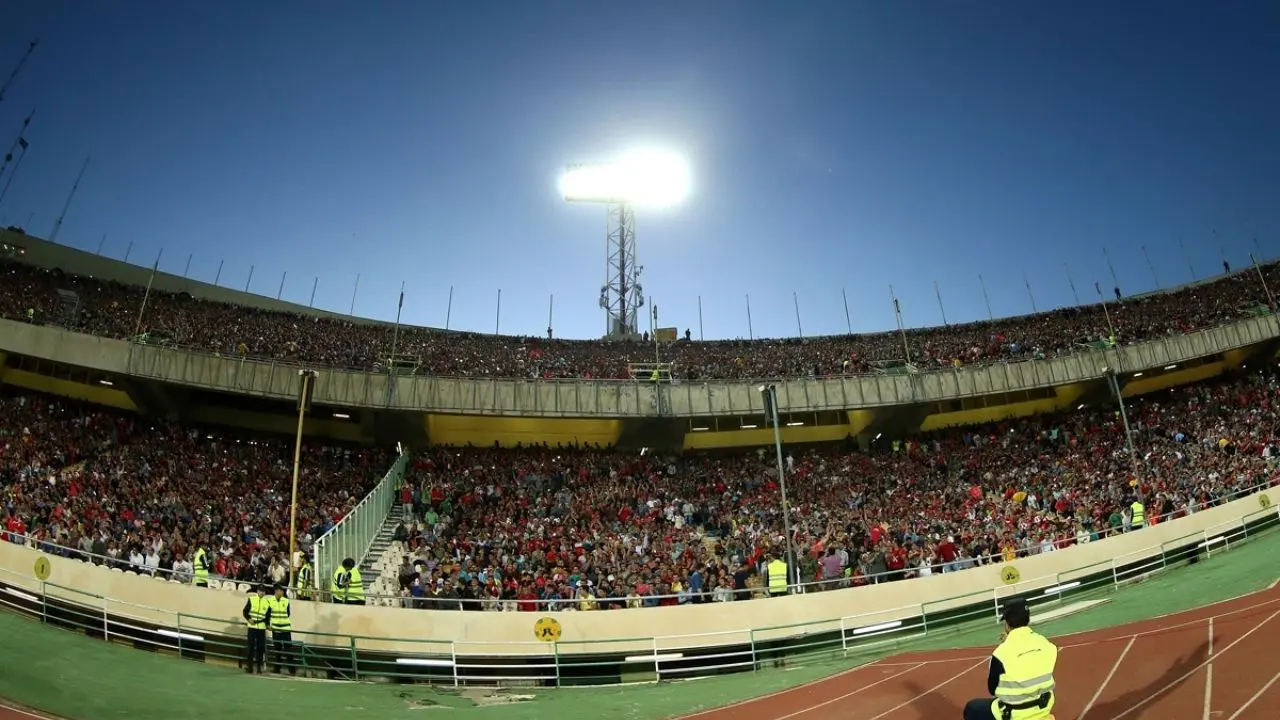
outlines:
[{"label": "long yellow wall panel under upper tier, just right of the stairs", "polygon": [[622,420],[563,418],[480,418],[472,415],[426,415],[426,438],[431,445],[492,447],[557,443],[614,445]]}]

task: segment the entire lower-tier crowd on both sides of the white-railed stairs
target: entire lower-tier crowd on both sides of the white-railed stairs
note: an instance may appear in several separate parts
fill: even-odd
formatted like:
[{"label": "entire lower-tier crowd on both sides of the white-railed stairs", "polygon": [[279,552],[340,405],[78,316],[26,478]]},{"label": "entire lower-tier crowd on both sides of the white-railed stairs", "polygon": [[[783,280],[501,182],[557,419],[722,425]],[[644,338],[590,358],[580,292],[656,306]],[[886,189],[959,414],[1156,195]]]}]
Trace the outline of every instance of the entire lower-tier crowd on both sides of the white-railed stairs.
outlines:
[{"label": "entire lower-tier crowd on both sides of the white-railed stairs", "polygon": [[[1053,552],[1233,498],[1280,477],[1280,382],[1268,369],[1130,405],[786,456],[806,592]],[[877,443],[881,445],[881,443]],[[305,448],[300,541],[340,519],[384,452]],[[288,441],[151,424],[35,393],[0,395],[0,488],[12,542],[140,573],[287,577]],[[764,594],[785,556],[768,452],[658,457],[589,448],[434,448],[402,488],[410,607],[607,609]],[[70,548],[70,550],[60,550]]]}]

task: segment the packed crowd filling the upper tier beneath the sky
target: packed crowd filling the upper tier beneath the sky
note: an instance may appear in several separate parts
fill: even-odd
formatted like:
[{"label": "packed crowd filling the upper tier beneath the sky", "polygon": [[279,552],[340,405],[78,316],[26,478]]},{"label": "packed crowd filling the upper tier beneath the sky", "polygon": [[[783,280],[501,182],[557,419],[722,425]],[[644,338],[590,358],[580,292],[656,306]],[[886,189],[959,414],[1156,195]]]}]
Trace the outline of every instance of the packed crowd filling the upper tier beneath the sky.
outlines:
[{"label": "packed crowd filling the upper tier beneath the sky", "polygon": [[[1280,287],[1280,264],[1265,268]],[[138,329],[145,288],[0,261],[0,316],[72,325],[127,338]],[[79,300],[63,316],[59,290]],[[1116,293],[1119,296],[1119,291]],[[1080,345],[1134,343],[1220,325],[1270,305],[1256,272],[1210,283],[1020,318],[911,329],[909,357],[896,332],[819,338],[664,343],[662,360],[682,379],[826,377],[870,372],[909,360],[919,369],[1048,357]],[[146,337],[224,355],[379,370],[390,360],[385,323],[268,311],[152,291],[141,318]],[[419,374],[506,378],[627,378],[631,363],[652,363],[653,346],[507,337],[402,327],[396,355]],[[399,365],[401,363],[397,361]]]}]

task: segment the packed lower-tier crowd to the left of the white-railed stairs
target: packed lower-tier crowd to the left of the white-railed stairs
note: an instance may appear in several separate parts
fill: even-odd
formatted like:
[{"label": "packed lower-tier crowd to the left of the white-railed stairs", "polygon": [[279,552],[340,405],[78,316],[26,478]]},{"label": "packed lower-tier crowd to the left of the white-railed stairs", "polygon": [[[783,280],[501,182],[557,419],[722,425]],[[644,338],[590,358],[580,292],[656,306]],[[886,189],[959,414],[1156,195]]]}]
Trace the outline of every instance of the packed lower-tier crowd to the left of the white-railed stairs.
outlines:
[{"label": "packed lower-tier crowd to the left of the white-railed stairs", "polygon": [[[342,519],[387,452],[303,446],[298,539]],[[244,582],[288,574],[293,442],[146,420],[0,392],[0,536],[120,569],[189,578],[196,543]],[[72,548],[68,552],[64,548]]]}]

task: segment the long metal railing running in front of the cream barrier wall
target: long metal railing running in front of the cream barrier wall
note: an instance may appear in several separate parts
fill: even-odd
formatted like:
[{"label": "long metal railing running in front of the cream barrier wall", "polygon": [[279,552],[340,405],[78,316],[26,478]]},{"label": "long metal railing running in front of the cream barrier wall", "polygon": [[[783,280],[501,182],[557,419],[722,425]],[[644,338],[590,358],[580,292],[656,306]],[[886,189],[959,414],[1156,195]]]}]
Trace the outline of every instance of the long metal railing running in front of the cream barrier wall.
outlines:
[{"label": "long metal railing running in front of the cream barrier wall", "polygon": [[[1016,584],[790,625],[609,639],[562,638],[545,643],[401,639],[297,628],[289,651],[269,662],[333,679],[568,687],[762,670],[785,657],[849,659],[908,650],[924,637],[987,632],[998,624],[1002,602],[1015,594],[1025,597],[1034,609],[1046,610],[1107,593],[1169,570],[1187,561],[1189,553],[1212,557],[1236,548],[1277,521],[1276,509],[1263,507],[1119,557]],[[0,607],[90,637],[192,660],[230,664],[243,657],[243,626],[238,618],[128,603],[3,569]]]}]

